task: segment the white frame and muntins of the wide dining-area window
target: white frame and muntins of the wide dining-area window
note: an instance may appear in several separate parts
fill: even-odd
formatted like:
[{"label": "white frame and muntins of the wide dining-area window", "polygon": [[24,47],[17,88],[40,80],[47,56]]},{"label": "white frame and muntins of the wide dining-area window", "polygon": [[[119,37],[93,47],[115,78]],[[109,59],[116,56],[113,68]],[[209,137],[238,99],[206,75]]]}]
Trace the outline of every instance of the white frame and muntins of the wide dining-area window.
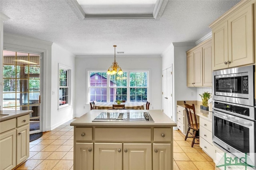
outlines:
[{"label": "white frame and muntins of the wide dining-area window", "polygon": [[[114,88],[110,86],[110,75],[107,75],[107,86],[90,86],[90,73],[91,72],[106,72],[106,70],[94,70],[94,69],[86,69],[87,76],[87,104],[90,103],[90,88],[107,88],[107,101],[110,102],[110,89]],[[150,69],[142,69],[142,70],[123,70],[123,72],[127,72],[127,86],[120,86],[115,88],[125,88],[127,89],[127,102],[130,102],[130,88],[147,88],[147,101],[150,101]],[[147,72],[147,86],[130,86],[130,72]],[[146,103],[146,102],[138,102],[138,103]]]}]

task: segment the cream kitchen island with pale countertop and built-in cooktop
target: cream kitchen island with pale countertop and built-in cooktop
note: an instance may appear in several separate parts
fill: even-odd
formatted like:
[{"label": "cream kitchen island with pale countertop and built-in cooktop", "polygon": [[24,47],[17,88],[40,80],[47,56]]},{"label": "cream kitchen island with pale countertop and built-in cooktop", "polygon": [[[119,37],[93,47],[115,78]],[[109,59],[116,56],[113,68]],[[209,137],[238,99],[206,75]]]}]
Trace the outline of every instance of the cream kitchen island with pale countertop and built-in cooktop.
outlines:
[{"label": "cream kitchen island with pale countertop and built-in cooktop", "polygon": [[[94,121],[100,113],[109,114],[105,121]],[[108,120],[111,113],[149,113],[153,121]],[[76,170],[173,168],[173,127],[176,123],[161,110],[91,110],[70,125],[74,126]]]}]

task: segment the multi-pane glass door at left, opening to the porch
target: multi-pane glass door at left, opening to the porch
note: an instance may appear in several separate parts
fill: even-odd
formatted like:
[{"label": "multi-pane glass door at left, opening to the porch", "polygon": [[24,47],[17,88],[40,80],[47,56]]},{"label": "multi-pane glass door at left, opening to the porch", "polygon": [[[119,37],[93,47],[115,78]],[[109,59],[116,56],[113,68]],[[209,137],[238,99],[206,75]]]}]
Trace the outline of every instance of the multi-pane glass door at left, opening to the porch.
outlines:
[{"label": "multi-pane glass door at left, opening to the porch", "polygon": [[3,110],[33,110],[30,134],[42,132],[40,54],[4,50]]}]

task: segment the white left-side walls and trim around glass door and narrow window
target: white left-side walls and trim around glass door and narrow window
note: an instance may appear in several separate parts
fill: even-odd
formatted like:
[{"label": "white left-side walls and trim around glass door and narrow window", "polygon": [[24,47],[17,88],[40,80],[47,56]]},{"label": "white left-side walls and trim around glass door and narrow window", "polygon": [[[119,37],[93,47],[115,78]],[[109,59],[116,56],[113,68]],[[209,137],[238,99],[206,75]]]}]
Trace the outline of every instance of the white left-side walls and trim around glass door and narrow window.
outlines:
[{"label": "white left-side walls and trim around glass door and narrow window", "polygon": [[[8,33],[4,33],[4,49],[42,53],[42,130],[54,129],[72,119],[73,106],[58,111],[58,95],[52,95],[52,91],[58,92],[58,63],[74,68],[74,55],[55,43]],[[74,71],[72,77],[72,92],[74,93]],[[74,103],[74,96],[72,96],[72,103]]]}]

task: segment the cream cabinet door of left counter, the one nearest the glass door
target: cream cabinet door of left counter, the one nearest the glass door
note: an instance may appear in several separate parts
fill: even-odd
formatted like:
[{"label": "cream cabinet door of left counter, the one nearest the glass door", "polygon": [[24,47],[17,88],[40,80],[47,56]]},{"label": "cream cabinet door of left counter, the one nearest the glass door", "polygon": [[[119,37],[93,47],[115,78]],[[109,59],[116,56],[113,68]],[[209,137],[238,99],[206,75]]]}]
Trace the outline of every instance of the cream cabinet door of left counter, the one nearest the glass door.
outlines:
[{"label": "cream cabinet door of left counter, the one nearest the glass door", "polygon": [[29,156],[29,124],[17,128],[17,165]]}]

